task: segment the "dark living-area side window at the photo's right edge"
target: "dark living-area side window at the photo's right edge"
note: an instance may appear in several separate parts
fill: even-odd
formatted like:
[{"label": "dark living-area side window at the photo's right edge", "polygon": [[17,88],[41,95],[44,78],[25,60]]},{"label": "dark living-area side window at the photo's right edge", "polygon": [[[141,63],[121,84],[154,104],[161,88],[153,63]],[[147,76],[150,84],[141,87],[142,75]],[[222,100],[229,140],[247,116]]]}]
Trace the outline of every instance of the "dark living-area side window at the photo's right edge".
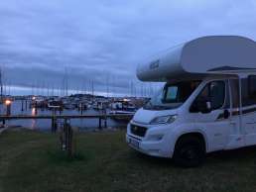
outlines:
[{"label": "dark living-area side window at the photo's right edge", "polygon": [[242,79],[242,106],[256,105],[256,75]]}]

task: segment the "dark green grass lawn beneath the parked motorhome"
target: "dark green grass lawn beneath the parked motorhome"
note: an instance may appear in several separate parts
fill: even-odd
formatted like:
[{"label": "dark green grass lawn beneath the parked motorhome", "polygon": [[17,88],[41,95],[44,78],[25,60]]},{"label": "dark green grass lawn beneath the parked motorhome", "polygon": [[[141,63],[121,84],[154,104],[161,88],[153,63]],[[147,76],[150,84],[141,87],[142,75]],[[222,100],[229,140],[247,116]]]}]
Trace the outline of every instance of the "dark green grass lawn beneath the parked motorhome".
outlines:
[{"label": "dark green grass lawn beneath the parked motorhome", "polygon": [[213,153],[198,168],[130,149],[124,132],[81,133],[68,159],[58,136],[31,131],[0,136],[0,191],[256,191],[256,148]]}]

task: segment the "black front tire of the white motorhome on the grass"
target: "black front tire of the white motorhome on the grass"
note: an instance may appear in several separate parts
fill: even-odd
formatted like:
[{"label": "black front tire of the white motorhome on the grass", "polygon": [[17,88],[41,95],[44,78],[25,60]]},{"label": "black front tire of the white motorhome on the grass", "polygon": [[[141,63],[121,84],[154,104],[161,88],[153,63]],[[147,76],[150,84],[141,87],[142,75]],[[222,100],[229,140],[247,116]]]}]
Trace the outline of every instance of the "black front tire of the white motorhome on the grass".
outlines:
[{"label": "black front tire of the white motorhome on the grass", "polygon": [[199,137],[186,136],[179,139],[175,146],[173,159],[182,167],[196,167],[205,158],[205,144]]}]

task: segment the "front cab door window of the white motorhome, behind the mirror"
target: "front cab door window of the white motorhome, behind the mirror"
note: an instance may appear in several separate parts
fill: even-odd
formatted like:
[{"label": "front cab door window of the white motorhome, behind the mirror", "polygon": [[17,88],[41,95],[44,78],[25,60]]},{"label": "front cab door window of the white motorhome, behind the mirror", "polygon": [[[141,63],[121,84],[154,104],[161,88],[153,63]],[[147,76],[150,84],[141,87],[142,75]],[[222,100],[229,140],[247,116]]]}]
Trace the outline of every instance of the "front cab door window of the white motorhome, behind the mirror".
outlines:
[{"label": "front cab door window of the white motorhome, behind the mirror", "polygon": [[200,111],[203,104],[207,104],[207,108],[212,111],[222,108],[225,103],[225,82],[212,81],[209,82],[192,103],[191,112],[197,113]]}]

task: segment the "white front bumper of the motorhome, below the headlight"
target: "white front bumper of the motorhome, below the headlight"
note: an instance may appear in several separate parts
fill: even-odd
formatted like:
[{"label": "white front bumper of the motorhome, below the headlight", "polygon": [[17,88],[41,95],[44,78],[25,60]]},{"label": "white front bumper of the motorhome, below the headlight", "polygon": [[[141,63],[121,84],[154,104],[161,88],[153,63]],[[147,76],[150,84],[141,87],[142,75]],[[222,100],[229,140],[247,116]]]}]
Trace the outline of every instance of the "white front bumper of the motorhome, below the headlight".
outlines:
[{"label": "white front bumper of the motorhome, below the headlight", "polygon": [[[145,125],[138,125],[144,126]],[[131,133],[130,124],[127,126],[126,142],[132,148],[152,156],[172,157],[172,141],[170,128],[158,126],[147,130],[145,137],[135,136]]]}]

